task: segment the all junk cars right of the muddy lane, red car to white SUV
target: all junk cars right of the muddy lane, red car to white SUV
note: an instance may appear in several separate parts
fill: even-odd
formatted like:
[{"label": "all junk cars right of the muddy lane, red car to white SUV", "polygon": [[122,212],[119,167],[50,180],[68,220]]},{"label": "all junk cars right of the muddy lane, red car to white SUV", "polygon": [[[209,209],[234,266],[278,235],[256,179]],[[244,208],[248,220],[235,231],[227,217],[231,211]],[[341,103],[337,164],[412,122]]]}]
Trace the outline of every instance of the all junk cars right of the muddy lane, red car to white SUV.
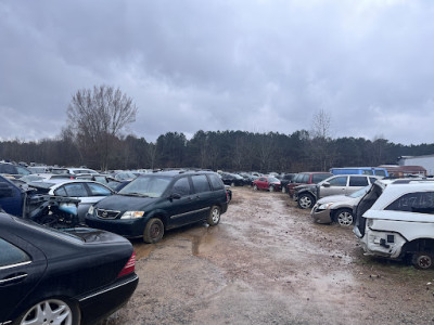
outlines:
[{"label": "all junk cars right of the muddy lane, red car to white SUV", "polygon": [[332,168],[258,176],[254,191],[281,191],[316,223],[353,226],[365,253],[434,265],[434,178],[421,166]]}]

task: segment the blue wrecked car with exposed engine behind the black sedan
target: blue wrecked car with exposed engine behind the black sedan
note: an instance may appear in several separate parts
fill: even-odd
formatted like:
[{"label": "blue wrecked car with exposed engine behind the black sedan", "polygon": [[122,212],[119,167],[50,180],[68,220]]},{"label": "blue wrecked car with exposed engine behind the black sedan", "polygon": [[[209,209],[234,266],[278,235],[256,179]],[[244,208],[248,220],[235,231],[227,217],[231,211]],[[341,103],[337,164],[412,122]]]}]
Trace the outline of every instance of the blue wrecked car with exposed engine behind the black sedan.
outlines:
[{"label": "blue wrecked car with exposed engine behind the black sedan", "polygon": [[0,176],[0,210],[30,219],[53,227],[75,226],[79,223],[79,199],[37,194],[27,184],[15,184]]}]

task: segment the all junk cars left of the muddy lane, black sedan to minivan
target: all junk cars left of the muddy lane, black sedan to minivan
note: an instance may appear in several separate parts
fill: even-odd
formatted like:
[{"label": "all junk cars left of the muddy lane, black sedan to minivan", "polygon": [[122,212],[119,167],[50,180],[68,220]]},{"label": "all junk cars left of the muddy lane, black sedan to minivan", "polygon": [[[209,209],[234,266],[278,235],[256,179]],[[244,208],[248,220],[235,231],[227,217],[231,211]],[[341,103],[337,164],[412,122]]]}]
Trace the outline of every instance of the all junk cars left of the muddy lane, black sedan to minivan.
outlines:
[{"label": "all junk cars left of the muddy lane, black sedan to minivan", "polygon": [[216,225],[230,197],[213,171],[0,161],[0,325],[97,324],[137,288],[127,238]]}]

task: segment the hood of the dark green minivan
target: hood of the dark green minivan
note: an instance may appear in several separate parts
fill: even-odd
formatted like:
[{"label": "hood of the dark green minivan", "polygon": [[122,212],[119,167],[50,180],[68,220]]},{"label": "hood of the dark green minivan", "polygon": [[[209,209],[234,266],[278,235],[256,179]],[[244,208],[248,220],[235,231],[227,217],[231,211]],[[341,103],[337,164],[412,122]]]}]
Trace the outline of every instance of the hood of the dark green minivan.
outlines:
[{"label": "hood of the dark green minivan", "polygon": [[143,197],[132,195],[111,195],[100,200],[95,208],[113,211],[142,211],[146,206],[154,203],[155,197]]}]

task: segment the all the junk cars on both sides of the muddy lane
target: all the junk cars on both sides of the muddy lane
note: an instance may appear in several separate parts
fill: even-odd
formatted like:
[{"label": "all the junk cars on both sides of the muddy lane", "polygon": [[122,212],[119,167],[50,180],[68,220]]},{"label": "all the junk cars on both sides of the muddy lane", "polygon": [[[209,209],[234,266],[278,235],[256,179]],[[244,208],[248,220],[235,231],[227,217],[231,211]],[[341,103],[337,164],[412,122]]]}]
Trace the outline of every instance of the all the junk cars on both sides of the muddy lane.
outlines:
[{"label": "all the junk cars on both sides of the muddy lane", "polygon": [[288,193],[316,222],[354,226],[366,253],[430,269],[434,182],[390,170],[99,173],[0,161],[0,325],[95,324],[138,285],[127,238],[156,243],[188,223],[216,225],[233,186]]}]

